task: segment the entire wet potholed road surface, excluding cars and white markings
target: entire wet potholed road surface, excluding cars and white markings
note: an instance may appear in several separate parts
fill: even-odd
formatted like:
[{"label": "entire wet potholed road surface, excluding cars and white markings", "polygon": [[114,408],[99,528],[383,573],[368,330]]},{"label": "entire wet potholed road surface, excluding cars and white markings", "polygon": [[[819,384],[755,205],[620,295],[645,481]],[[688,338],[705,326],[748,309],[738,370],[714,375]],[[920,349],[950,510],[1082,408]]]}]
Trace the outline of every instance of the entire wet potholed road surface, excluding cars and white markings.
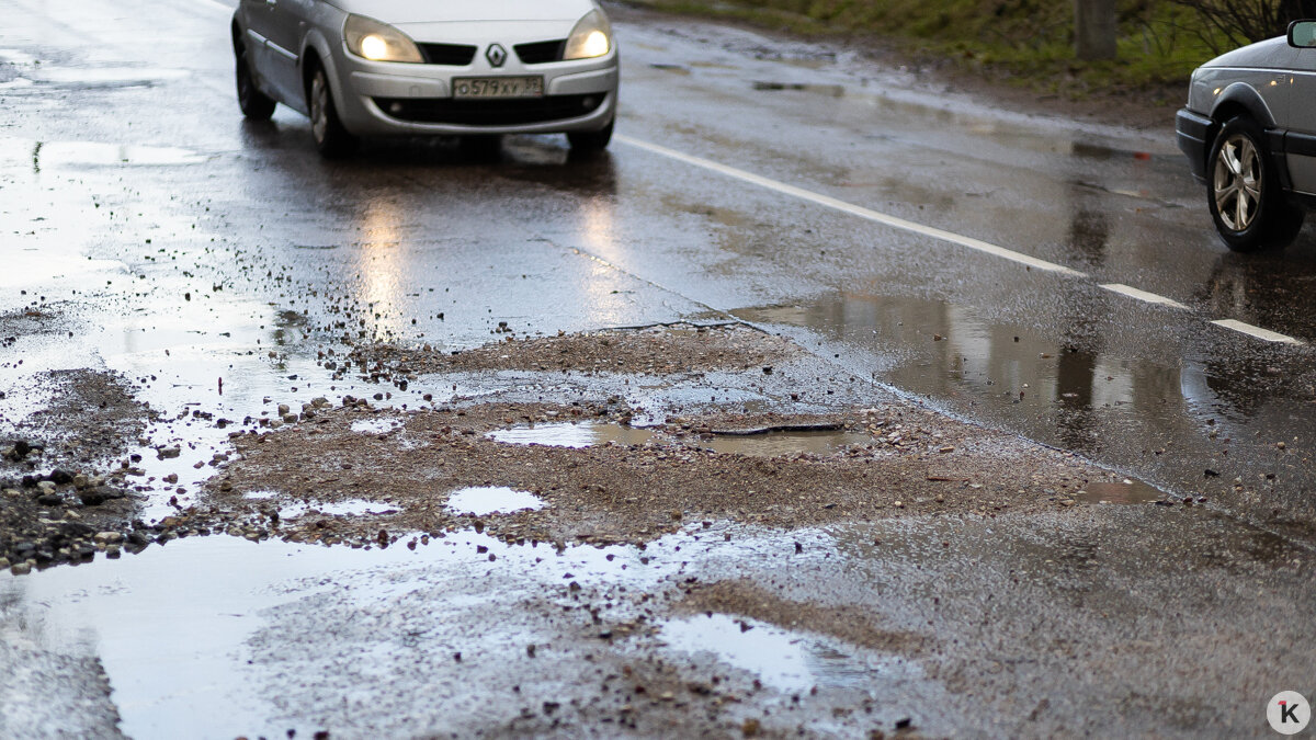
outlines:
[{"label": "entire wet potholed road surface, excluding cars and white markings", "polygon": [[0,8],[0,736],[1237,737],[1311,695],[1311,350],[1203,319],[1316,338],[1312,242],[1223,254],[1165,132],[617,8],[619,132],[1061,279],[625,145],[325,163],[233,112],[225,12],[129,7]]}]

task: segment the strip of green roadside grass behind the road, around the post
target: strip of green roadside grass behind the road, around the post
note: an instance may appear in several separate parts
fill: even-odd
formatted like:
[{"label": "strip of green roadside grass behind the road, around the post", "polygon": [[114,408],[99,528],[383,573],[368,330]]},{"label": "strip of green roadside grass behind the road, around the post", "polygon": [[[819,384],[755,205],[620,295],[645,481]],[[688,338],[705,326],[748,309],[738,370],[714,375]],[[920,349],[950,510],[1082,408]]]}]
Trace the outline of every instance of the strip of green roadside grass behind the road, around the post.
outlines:
[{"label": "strip of green roadside grass behind the road, around the post", "polygon": [[812,38],[873,40],[936,66],[1070,99],[1173,88],[1228,40],[1165,0],[1121,0],[1113,62],[1074,57],[1070,0],[630,0]]}]

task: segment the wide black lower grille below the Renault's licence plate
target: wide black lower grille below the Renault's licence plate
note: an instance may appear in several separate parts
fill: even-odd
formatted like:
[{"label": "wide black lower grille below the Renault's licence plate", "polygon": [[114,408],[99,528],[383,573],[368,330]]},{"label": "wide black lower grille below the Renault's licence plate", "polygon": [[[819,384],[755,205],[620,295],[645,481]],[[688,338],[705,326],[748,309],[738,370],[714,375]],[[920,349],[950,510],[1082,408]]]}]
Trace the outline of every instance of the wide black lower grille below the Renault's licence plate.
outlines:
[{"label": "wide black lower grille below the Renault's licence plate", "polygon": [[505,100],[454,100],[451,97],[375,97],[388,116],[417,124],[497,126],[540,124],[587,116],[599,109],[605,95],[547,95]]}]

